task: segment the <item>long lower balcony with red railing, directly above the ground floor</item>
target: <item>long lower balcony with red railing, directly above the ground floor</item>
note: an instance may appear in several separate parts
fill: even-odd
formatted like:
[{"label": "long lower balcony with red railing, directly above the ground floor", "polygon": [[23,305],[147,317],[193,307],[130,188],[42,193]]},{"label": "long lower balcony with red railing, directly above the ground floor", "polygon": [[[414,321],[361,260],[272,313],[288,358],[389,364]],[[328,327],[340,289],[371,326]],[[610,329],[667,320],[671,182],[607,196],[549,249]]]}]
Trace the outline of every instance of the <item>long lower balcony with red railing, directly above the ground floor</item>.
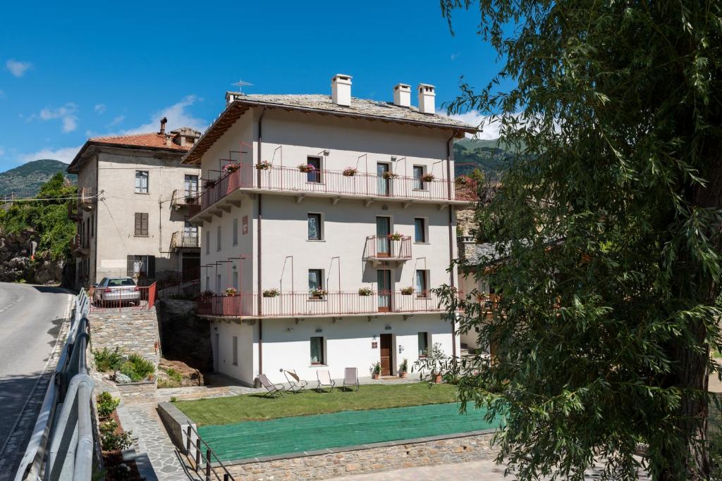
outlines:
[{"label": "long lower balcony with red railing, directly above the ground floor", "polygon": [[358,292],[331,292],[323,296],[308,293],[281,293],[273,297],[245,293],[236,296],[210,296],[199,300],[198,313],[214,317],[334,317],[376,314],[443,312],[433,293],[401,294],[378,291],[369,296]]}]

